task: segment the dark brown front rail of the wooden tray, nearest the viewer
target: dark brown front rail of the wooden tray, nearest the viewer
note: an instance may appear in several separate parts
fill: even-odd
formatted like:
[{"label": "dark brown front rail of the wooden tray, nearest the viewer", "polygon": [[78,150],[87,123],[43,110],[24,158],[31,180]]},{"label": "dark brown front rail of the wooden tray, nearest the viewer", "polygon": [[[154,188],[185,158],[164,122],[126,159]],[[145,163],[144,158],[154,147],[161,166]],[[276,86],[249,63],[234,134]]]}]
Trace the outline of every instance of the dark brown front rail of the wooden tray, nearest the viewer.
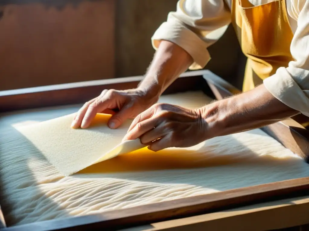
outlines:
[{"label": "dark brown front rail of the wooden tray, nearest the viewer", "polygon": [[254,203],[308,195],[309,177],[237,188],[207,195],[187,197],[128,209],[113,210],[96,215],[35,222],[13,226],[3,231],[51,231],[84,229],[119,229],[150,222],[194,216],[231,209]]}]

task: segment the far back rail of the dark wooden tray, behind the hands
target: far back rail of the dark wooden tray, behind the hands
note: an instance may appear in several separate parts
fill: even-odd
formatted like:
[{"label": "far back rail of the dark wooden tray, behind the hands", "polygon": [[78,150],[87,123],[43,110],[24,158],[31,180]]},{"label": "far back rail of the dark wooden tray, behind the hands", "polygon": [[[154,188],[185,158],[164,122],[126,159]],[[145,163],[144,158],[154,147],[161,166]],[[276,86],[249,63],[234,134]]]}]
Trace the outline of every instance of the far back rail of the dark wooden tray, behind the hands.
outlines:
[{"label": "far back rail of the dark wooden tray, behind the hands", "polygon": [[[164,94],[200,90],[204,81],[202,75],[207,72],[201,70],[183,73]],[[0,112],[85,103],[97,97],[104,89],[135,88],[143,78],[133,76],[0,91]]]}]

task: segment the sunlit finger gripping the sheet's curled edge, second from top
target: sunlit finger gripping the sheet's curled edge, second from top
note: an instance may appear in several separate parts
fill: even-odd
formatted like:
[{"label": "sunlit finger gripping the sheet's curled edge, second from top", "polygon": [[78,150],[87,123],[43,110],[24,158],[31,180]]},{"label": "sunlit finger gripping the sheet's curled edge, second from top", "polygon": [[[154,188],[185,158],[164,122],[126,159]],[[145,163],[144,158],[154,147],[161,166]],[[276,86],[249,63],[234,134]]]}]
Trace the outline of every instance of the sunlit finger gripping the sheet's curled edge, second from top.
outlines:
[{"label": "sunlit finger gripping the sheet's curled edge, second from top", "polygon": [[130,132],[128,132],[125,137],[123,138],[124,140],[135,140],[142,136],[144,133],[150,131],[153,129],[156,124],[158,123],[158,118],[150,118],[143,120],[142,122],[139,122],[136,124],[134,128]]}]

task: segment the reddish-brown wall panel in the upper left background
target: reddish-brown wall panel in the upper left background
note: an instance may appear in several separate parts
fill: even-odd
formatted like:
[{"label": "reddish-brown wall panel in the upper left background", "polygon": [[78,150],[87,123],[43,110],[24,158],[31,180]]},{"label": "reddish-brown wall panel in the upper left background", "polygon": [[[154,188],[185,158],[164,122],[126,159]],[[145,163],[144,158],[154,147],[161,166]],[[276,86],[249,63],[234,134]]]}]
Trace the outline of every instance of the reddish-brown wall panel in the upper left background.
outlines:
[{"label": "reddish-brown wall panel in the upper left background", "polygon": [[114,76],[114,0],[0,2],[0,90]]}]

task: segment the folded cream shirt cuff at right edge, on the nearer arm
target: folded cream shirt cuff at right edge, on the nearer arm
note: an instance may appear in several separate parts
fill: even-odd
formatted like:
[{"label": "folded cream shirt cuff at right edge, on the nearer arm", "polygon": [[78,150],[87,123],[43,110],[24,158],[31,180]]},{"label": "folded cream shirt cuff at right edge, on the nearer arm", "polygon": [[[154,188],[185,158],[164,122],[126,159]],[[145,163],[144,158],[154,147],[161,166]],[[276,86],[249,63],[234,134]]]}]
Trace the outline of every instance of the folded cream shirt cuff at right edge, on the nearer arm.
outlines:
[{"label": "folded cream shirt cuff at right edge, on the nearer arm", "polygon": [[266,89],[282,103],[306,116],[309,116],[309,98],[284,67],[276,74],[264,79]]}]

